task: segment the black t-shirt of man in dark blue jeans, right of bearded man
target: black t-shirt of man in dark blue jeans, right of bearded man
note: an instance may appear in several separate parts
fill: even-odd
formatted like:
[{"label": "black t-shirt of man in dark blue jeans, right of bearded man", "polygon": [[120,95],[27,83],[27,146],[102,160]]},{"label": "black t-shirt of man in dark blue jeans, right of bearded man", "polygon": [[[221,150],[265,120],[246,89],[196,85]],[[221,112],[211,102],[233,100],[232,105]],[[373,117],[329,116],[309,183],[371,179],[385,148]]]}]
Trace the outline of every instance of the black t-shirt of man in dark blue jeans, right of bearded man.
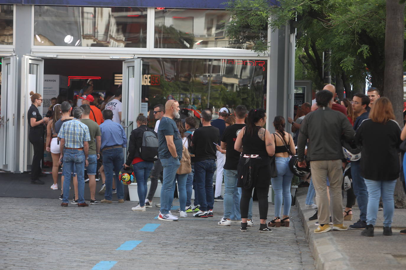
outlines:
[{"label": "black t-shirt of man in dark blue jeans, right of bearded man", "polygon": [[201,127],[194,131],[192,138],[192,162],[198,162],[205,159],[216,159],[216,145],[220,134],[218,128],[213,126]]}]

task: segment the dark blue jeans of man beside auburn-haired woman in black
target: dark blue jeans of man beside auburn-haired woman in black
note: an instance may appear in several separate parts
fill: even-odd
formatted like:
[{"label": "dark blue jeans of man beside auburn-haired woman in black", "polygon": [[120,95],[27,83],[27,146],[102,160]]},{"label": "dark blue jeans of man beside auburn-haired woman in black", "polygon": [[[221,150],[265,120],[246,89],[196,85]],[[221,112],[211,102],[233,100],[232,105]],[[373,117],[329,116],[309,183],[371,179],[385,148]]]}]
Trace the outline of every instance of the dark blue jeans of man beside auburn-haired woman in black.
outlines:
[{"label": "dark blue jeans of man beside auburn-haired woman in black", "polygon": [[368,191],[365,181],[361,176],[361,165],[359,161],[351,162],[352,189],[358,202],[360,210],[359,219],[367,220]]}]

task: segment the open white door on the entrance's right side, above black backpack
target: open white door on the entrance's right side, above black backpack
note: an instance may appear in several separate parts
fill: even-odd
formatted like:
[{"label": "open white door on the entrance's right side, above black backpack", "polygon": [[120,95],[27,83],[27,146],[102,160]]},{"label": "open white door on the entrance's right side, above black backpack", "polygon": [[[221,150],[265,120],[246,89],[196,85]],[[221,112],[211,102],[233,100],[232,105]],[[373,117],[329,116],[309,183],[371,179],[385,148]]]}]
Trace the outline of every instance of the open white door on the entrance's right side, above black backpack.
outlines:
[{"label": "open white door on the entrance's right side, above black backpack", "polygon": [[[140,58],[123,62],[123,103],[121,125],[126,131],[127,138],[136,126],[136,118],[141,111],[141,66]],[[147,115],[145,115],[147,117]]]}]

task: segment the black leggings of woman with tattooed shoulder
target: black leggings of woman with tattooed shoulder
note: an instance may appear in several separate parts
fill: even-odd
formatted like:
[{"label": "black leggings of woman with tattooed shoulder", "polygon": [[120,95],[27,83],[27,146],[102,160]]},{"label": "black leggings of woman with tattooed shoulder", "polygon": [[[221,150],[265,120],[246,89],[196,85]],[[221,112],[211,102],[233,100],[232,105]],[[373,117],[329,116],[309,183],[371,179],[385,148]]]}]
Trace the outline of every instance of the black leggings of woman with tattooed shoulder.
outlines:
[{"label": "black leggings of woman with tattooed shoulder", "polygon": [[[244,189],[243,187],[241,193],[241,201],[240,201],[240,212],[241,218],[246,219],[248,218],[248,208],[250,205],[251,196],[253,193],[254,187],[249,189]],[[259,218],[266,219],[268,216],[268,192],[269,192],[269,185],[267,187],[257,188],[257,197],[258,197],[258,208],[259,208]]]}]

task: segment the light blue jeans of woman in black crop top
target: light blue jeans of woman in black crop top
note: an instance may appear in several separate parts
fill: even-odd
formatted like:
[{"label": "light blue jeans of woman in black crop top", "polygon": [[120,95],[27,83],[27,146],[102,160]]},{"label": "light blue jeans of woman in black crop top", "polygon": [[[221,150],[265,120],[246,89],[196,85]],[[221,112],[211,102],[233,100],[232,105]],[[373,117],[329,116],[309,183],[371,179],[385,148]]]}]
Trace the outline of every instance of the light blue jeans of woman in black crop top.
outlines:
[{"label": "light blue jeans of woman in black crop top", "polygon": [[283,215],[289,215],[292,204],[290,186],[292,185],[293,172],[289,169],[289,160],[289,157],[275,157],[278,176],[271,179],[272,188],[275,191],[275,217],[281,217],[282,197]]}]

